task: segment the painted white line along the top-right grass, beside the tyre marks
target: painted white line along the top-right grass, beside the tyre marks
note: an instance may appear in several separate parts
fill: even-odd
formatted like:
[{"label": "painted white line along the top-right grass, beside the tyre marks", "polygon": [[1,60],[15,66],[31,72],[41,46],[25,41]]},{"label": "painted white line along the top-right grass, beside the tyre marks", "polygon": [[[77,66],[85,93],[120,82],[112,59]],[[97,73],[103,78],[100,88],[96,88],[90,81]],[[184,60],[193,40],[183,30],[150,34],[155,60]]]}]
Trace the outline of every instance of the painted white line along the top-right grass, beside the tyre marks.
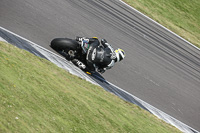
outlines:
[{"label": "painted white line along the top-right grass, beside the tyre marks", "polygon": [[148,18],[149,20],[151,20],[152,22],[156,23],[157,25],[161,26],[162,28],[164,28],[165,30],[167,30],[168,32],[172,33],[173,35],[175,35],[176,37],[180,38],[181,40],[185,41],[186,43],[190,44],[191,46],[193,46],[194,48],[200,50],[200,48],[198,48],[197,46],[195,46],[194,44],[192,44],[191,42],[185,40],[184,38],[180,37],[179,35],[177,35],[176,33],[174,33],[173,31],[167,29],[166,27],[164,27],[163,25],[159,24],[158,22],[156,22],[155,20],[151,19],[150,17],[144,15],[143,13],[139,12],[138,10],[136,10],[134,7],[128,5],[127,3],[125,3],[122,0],[119,0],[121,3],[125,4],[126,6],[128,6],[129,8],[133,9],[134,11],[136,11],[137,13],[141,14],[142,16]]}]

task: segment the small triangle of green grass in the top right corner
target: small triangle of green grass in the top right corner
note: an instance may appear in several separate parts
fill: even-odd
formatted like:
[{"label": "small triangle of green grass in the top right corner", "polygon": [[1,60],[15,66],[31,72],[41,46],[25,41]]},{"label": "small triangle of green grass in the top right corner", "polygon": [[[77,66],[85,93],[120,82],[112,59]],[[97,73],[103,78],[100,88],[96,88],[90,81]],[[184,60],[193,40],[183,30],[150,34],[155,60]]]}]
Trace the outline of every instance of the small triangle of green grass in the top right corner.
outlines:
[{"label": "small triangle of green grass in the top right corner", "polygon": [[123,0],[200,47],[200,0]]}]

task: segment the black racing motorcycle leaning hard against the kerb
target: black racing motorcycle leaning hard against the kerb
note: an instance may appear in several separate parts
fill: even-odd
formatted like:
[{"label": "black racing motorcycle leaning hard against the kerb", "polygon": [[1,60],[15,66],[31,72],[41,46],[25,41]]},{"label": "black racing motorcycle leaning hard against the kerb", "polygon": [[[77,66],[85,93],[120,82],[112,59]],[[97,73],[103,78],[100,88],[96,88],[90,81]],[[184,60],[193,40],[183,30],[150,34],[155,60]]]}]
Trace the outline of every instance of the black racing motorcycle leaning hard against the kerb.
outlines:
[{"label": "black racing motorcycle leaning hard against the kerb", "polygon": [[94,67],[87,65],[86,53],[76,39],[55,38],[51,41],[50,47],[88,74],[95,72]]}]

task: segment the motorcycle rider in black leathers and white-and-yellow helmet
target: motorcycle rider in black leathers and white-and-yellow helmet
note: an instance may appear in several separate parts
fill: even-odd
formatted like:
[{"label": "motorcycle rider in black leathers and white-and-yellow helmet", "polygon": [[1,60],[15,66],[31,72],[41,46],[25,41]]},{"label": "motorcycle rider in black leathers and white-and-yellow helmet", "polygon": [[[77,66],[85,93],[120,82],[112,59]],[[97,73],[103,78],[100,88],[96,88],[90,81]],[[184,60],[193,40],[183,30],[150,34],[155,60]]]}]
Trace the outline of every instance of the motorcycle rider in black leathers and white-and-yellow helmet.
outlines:
[{"label": "motorcycle rider in black leathers and white-and-yellow helmet", "polygon": [[[101,39],[101,44],[97,37],[77,37],[76,40],[80,42],[83,53],[86,54],[87,66],[100,73],[112,68],[116,62],[123,60],[125,57],[124,50],[118,48],[114,51],[105,39]],[[77,59],[72,62],[80,64]]]}]

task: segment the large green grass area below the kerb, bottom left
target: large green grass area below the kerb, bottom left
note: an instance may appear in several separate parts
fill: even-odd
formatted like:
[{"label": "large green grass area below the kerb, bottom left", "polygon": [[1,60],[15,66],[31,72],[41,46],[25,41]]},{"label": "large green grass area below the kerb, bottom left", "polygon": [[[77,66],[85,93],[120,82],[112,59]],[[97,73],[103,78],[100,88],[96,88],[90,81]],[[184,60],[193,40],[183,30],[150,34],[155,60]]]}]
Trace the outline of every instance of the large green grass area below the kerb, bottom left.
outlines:
[{"label": "large green grass area below the kerb, bottom left", "polygon": [[0,132],[180,132],[140,107],[0,42]]}]

